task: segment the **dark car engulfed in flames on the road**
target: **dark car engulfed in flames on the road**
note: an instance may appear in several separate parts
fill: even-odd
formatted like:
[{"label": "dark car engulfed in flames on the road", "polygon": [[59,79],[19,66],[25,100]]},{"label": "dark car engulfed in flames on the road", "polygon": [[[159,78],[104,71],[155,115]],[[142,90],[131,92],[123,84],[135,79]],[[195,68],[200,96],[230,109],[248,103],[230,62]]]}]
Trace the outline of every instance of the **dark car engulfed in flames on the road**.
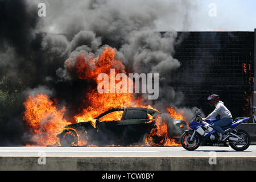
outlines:
[{"label": "dark car engulfed in flames on the road", "polygon": [[[110,119],[111,114],[121,115],[121,119]],[[121,113],[121,114],[120,114]],[[156,119],[162,117],[159,111],[143,107],[115,108],[105,111],[92,121],[79,122],[67,125],[57,137],[61,146],[164,146],[167,138],[150,135],[156,130]],[[104,119],[107,118],[107,119]],[[163,118],[163,117],[162,117]],[[162,119],[168,128],[168,138],[179,141],[181,134],[187,130],[183,120],[166,118]],[[145,141],[151,140],[151,144]]]}]

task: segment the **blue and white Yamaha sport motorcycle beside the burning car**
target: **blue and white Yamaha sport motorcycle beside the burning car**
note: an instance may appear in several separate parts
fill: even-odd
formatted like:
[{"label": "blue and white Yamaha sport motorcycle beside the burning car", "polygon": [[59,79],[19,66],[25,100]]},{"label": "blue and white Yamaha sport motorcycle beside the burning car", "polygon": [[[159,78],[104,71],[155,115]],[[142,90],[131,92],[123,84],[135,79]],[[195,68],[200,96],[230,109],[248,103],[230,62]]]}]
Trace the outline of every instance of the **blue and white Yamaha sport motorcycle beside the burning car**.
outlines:
[{"label": "blue and white Yamaha sport motorcycle beside the burning car", "polygon": [[181,135],[180,143],[186,150],[196,150],[200,145],[228,147],[229,144],[234,150],[243,151],[250,146],[250,135],[244,130],[237,129],[237,126],[249,118],[236,118],[230,125],[222,127],[226,133],[229,133],[229,137],[223,141],[212,127],[212,124],[219,119],[210,118],[203,121],[202,118],[203,115],[196,110],[195,116],[188,123],[190,129]]}]

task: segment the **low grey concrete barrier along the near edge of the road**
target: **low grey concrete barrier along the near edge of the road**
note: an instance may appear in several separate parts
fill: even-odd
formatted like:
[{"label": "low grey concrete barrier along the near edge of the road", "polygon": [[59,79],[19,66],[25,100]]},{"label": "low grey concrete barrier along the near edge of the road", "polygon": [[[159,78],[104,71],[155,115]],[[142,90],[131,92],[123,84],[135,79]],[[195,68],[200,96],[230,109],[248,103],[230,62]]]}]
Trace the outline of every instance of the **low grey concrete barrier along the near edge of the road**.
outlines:
[{"label": "low grey concrete barrier along the near edge of the road", "polygon": [[0,157],[0,170],[256,170],[256,157],[47,157],[39,164],[38,157]]}]

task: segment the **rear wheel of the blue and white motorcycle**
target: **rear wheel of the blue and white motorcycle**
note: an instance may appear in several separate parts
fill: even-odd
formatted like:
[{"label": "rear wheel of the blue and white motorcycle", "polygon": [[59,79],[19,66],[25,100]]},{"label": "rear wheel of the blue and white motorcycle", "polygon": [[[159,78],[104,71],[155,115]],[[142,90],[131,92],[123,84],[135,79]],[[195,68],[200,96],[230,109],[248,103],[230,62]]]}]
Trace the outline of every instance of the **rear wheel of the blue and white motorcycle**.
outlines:
[{"label": "rear wheel of the blue and white motorcycle", "polygon": [[237,130],[237,133],[235,134],[241,137],[241,140],[238,140],[237,142],[229,142],[230,147],[236,151],[246,150],[251,143],[250,135],[245,130]]}]

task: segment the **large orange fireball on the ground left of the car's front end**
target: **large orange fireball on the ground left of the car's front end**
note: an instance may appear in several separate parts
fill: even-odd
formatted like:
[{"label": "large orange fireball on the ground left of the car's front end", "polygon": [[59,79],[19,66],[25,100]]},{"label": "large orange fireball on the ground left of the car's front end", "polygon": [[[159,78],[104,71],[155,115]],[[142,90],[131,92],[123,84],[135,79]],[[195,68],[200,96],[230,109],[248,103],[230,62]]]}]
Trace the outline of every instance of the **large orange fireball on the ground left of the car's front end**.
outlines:
[{"label": "large orange fireball on the ground left of the car's front end", "polygon": [[23,103],[26,111],[23,120],[27,121],[32,130],[32,140],[38,146],[56,145],[59,143],[57,134],[61,133],[65,125],[71,124],[63,118],[65,107],[56,108],[56,103],[46,94],[28,96]]}]

